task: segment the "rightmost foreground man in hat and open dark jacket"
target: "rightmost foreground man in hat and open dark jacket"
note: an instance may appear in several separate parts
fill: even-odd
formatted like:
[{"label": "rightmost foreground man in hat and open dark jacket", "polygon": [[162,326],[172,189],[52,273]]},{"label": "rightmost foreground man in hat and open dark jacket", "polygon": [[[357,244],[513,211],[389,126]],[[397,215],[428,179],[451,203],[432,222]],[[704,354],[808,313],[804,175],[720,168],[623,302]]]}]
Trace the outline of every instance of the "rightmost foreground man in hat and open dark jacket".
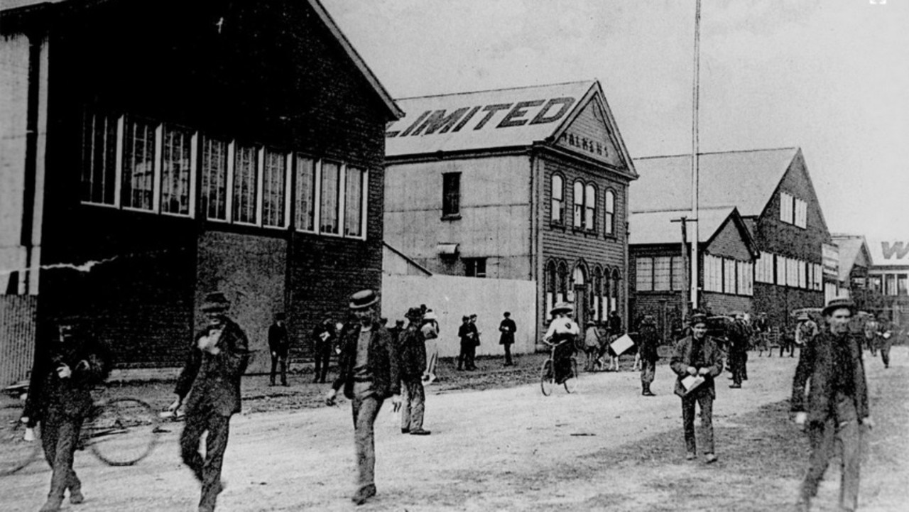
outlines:
[{"label": "rightmost foreground man in hat and open dark jacket", "polygon": [[[811,443],[808,472],[798,500],[802,511],[811,507],[811,499],[817,494],[818,484],[834,455],[837,437],[843,447],[840,510],[858,507],[861,426],[874,427],[874,421],[868,410],[862,346],[849,332],[854,313],[852,299],[831,299],[823,310],[827,326],[807,340],[795,368],[792,411],[795,423],[804,426]],[[805,407],[805,385],[809,379]]]}]

